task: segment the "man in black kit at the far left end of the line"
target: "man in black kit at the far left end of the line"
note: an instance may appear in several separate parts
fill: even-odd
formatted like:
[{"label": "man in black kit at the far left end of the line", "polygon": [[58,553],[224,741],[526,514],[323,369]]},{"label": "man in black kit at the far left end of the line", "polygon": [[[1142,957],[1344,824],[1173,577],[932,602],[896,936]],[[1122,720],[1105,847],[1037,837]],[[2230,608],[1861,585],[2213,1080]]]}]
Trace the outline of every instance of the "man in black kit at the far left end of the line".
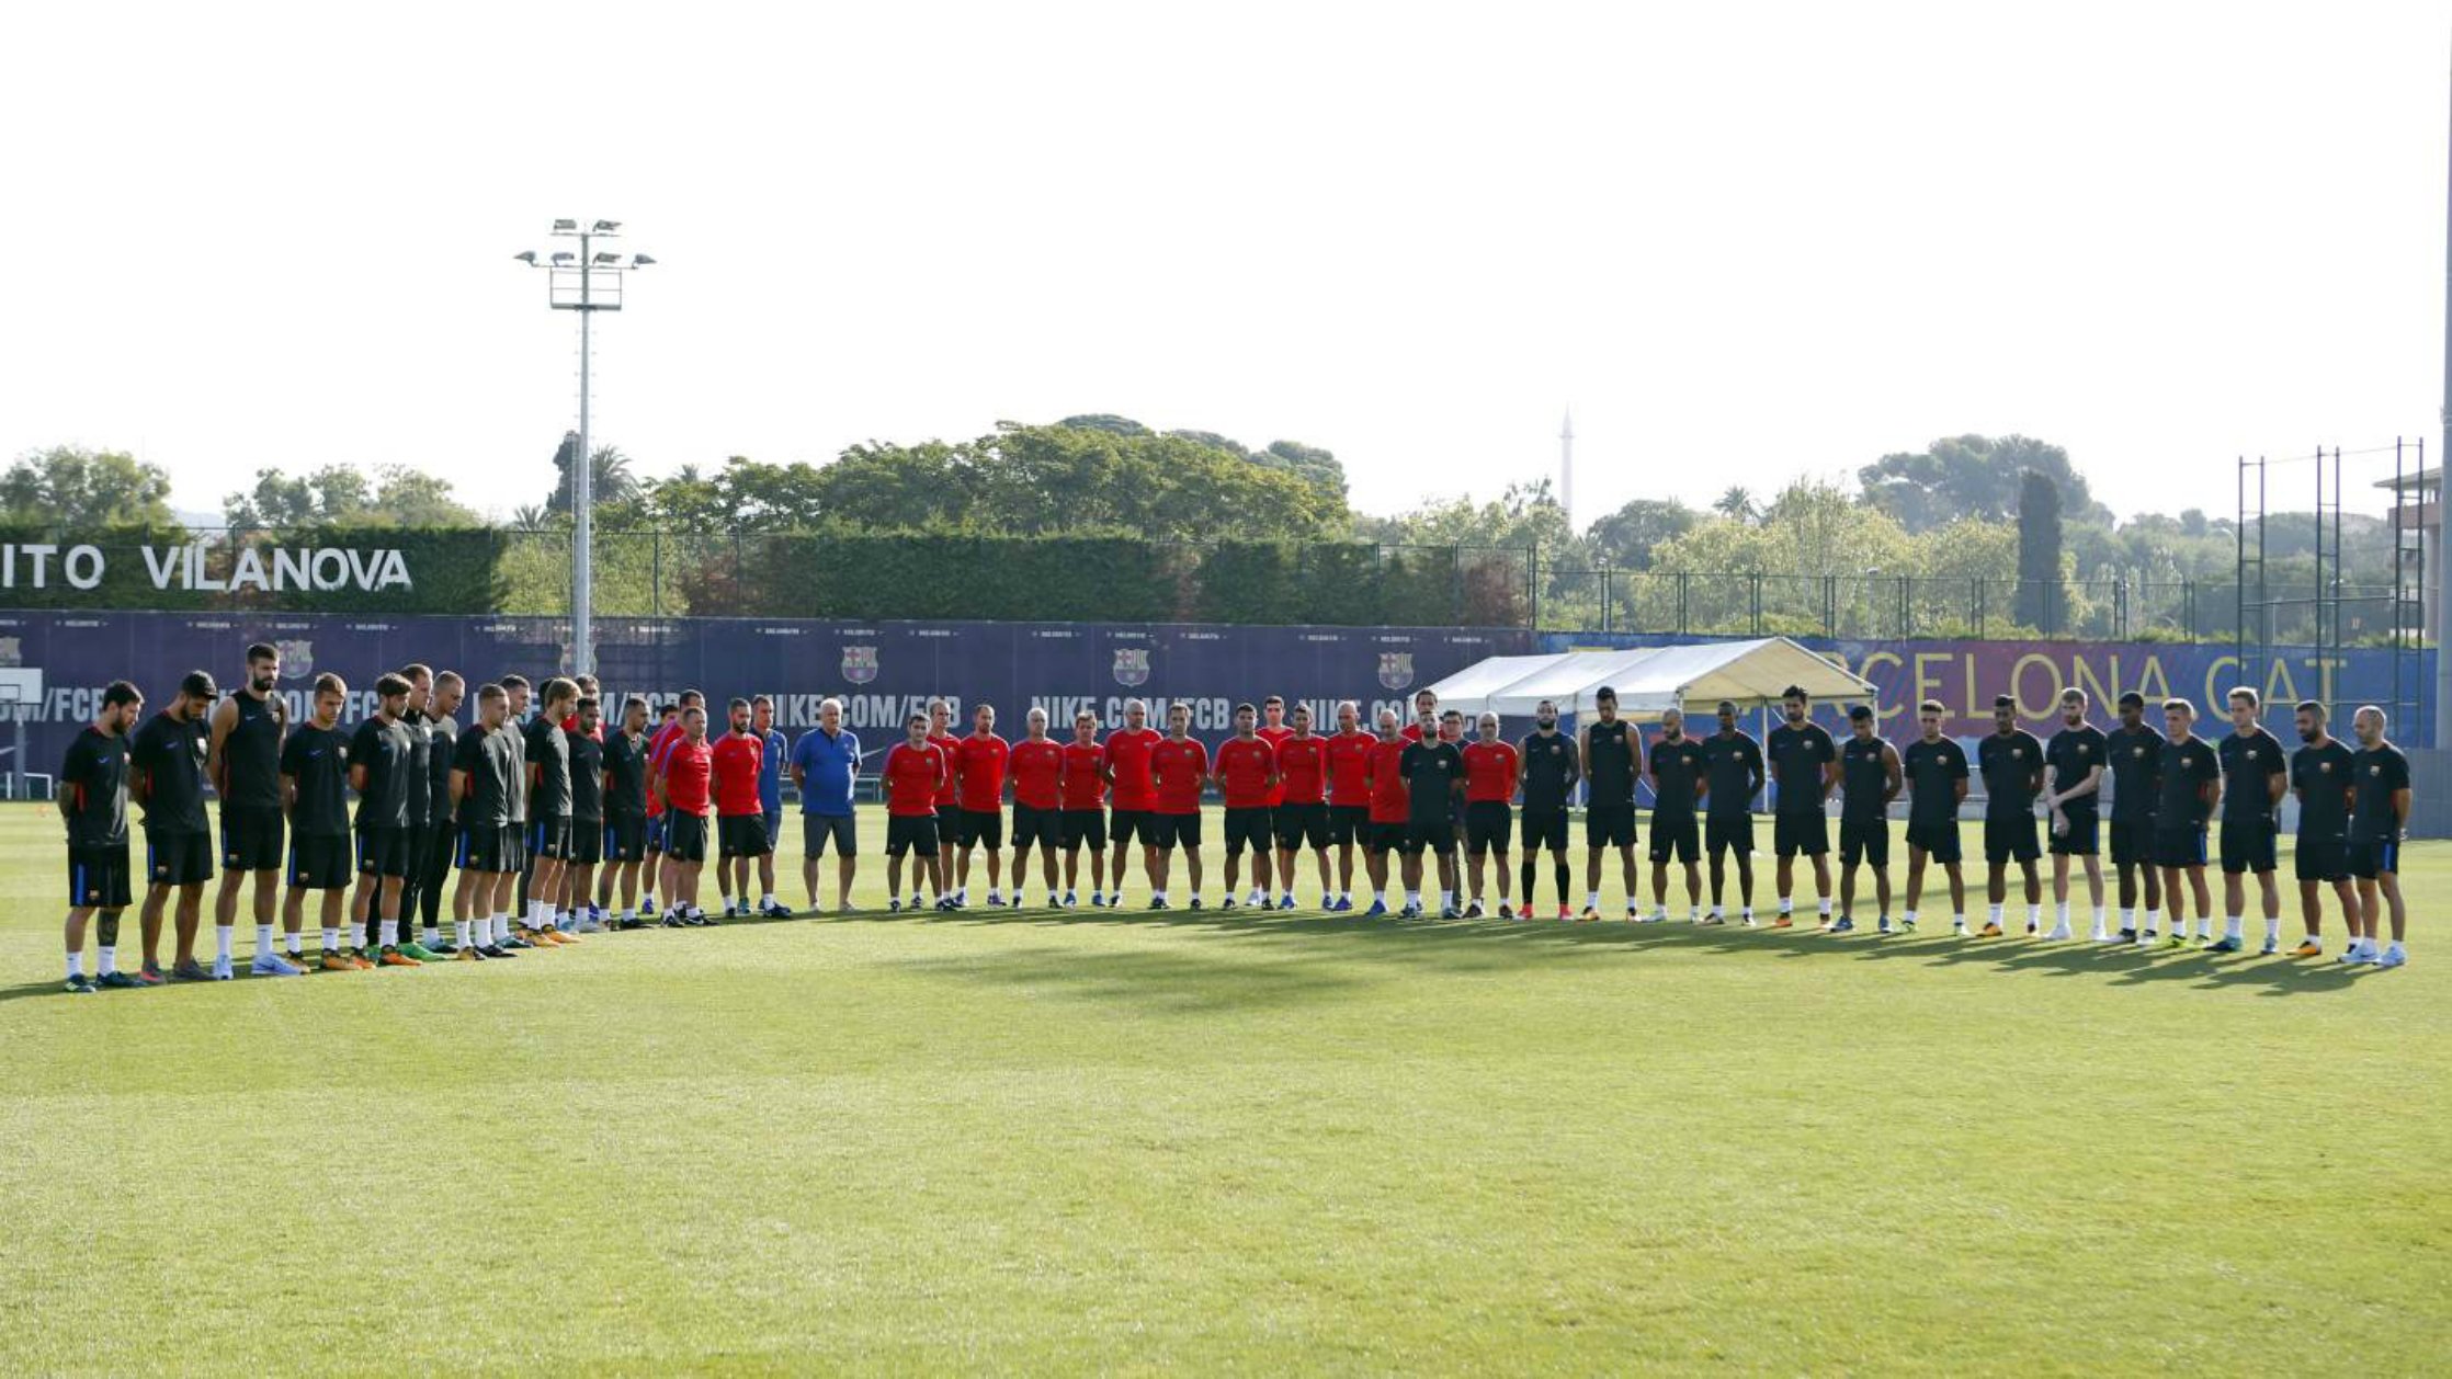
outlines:
[{"label": "man in black kit at the far left end of the line", "polygon": [[[145,715],[145,696],[110,681],[103,710],[69,742],[59,762],[59,816],[69,825],[69,992],[137,987],[120,972],[120,911],[128,909],[128,732]],[[96,975],[86,977],[86,921],[96,923]]]}]

